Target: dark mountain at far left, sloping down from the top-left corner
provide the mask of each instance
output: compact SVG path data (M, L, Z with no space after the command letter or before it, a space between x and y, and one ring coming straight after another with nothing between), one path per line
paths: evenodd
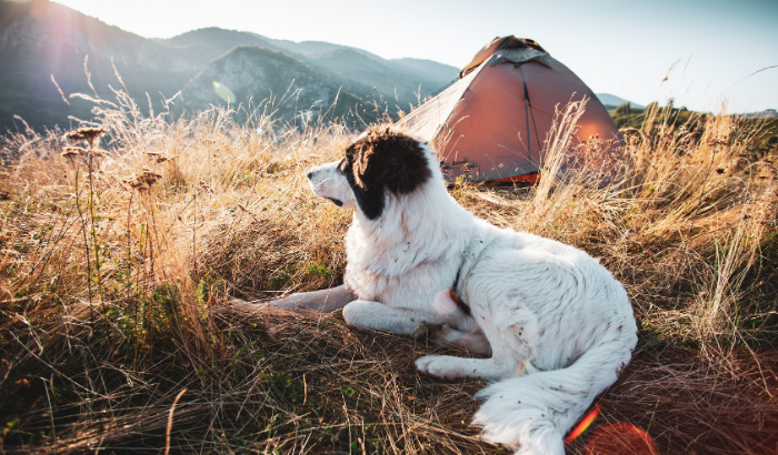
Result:
M110 95L119 87L113 64L137 100L144 93L170 95L198 71L188 55L44 0L0 2L0 131L14 129L18 114L33 128L66 125L68 115L90 117L92 104L62 100L64 93L92 94L84 74L89 57L91 82ZM17 122L17 125L19 123Z

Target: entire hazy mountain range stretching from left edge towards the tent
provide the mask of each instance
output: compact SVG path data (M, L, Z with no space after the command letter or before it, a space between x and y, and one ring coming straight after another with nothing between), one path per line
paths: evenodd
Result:
M231 88L237 92L253 90L252 93L263 93L260 87L273 87L276 93L278 81L255 79L247 82L241 79L239 68L228 63L243 61L241 59L246 55L268 59L267 62L252 62L252 68L289 65L288 69L278 67L277 74L301 75L295 82L295 87L302 90L300 95L306 91L326 92L325 98L329 99L332 89L340 89L339 98L343 103L356 103L367 101L368 95L383 94L386 105L393 108L398 103L397 93L403 109L408 102L417 102L417 92L421 98L431 94L456 78L458 71L429 60L386 60L357 48L320 41L273 40L218 28L193 30L170 39L148 39L48 0L0 0L0 134L22 128L13 119L14 114L38 130L67 127L71 123L71 115L90 118L92 103L80 99L68 99L69 104L66 103L51 81L53 74L66 95L73 92L93 94L83 71L87 55L91 82L100 97L112 99L109 84L113 88L121 85L114 74L116 65L141 109L148 110L148 93L156 111L162 108L162 97L170 98L184 87L184 92L192 97L184 100L184 103L190 101L187 109L205 107L200 101L205 102L209 97L197 88L200 83L205 87L202 78L213 73L223 80L240 81L240 88ZM265 48L268 52L242 50L222 61L220 69L217 69L218 64L211 65L239 46ZM238 55L242 55L241 59ZM231 74L232 71L236 73ZM291 82L291 79L286 81L286 87ZM221 83L228 85L225 81ZM312 85L305 87L306 83ZM223 103L215 93L210 101ZM255 101L260 100L255 98Z

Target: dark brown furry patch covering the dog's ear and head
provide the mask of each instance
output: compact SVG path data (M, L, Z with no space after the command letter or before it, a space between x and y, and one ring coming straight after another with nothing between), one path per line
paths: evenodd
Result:
M385 189L396 195L408 194L432 175L419 141L391 127L369 129L346 149L340 170L370 220L383 212Z

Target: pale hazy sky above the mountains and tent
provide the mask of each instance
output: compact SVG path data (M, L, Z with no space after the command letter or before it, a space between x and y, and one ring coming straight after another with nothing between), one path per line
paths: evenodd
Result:
M149 38L205 27L328 41L463 67L489 40L531 38L595 92L694 110L778 109L778 0L60 0ZM670 68L669 79L662 83ZM744 80L745 79L745 80Z

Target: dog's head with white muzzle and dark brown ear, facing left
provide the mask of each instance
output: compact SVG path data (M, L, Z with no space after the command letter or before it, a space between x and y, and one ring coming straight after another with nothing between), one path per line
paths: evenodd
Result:
M311 169L308 179L317 195L376 220L388 193L408 194L430 179L429 153L409 135L373 127L346 149L342 160Z

